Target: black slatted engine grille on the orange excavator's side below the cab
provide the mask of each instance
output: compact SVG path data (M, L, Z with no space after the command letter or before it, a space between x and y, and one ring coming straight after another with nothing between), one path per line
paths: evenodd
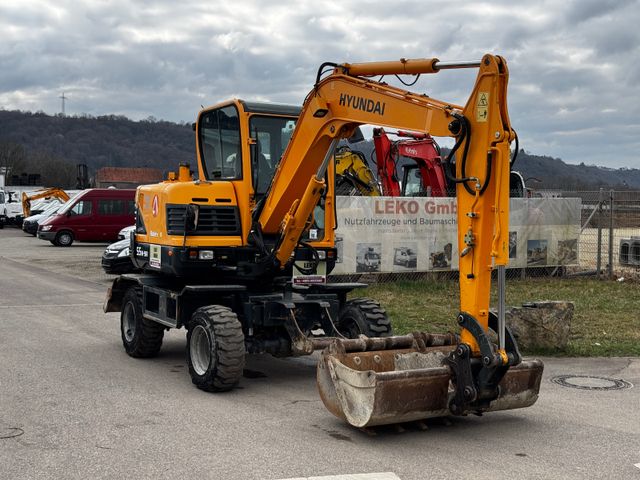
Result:
M167 233L184 235L186 205L167 205ZM200 205L198 227L189 235L240 235L238 207Z

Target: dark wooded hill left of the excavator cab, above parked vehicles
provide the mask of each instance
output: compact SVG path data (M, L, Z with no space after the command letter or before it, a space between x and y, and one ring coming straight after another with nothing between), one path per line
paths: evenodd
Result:
M76 165L81 163L93 177L101 167L169 171L180 162L195 165L194 160L190 124L0 110L0 167L9 167L8 180L12 175L40 174L41 184L67 188L75 186Z

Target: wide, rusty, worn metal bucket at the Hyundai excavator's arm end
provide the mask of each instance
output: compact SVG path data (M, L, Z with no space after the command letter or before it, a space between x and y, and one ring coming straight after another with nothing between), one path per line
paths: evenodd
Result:
M318 363L320 397L331 413L359 428L535 403L543 370L539 360L510 367L491 402L454 413L454 373L445 359L456 348L453 334L336 339Z

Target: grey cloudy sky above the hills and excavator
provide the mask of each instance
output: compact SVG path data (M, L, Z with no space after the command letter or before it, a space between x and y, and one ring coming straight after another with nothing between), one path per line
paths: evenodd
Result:
M193 121L301 104L325 61L507 59L526 151L640 168L640 0L3 0L0 108ZM464 104L475 74L415 87ZM390 83L393 83L390 81Z

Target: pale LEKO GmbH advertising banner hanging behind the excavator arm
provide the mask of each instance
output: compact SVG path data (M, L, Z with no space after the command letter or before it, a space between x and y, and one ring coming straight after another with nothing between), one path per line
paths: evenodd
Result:
M338 196L334 274L458 268L455 198ZM579 198L513 198L509 267L577 265Z

